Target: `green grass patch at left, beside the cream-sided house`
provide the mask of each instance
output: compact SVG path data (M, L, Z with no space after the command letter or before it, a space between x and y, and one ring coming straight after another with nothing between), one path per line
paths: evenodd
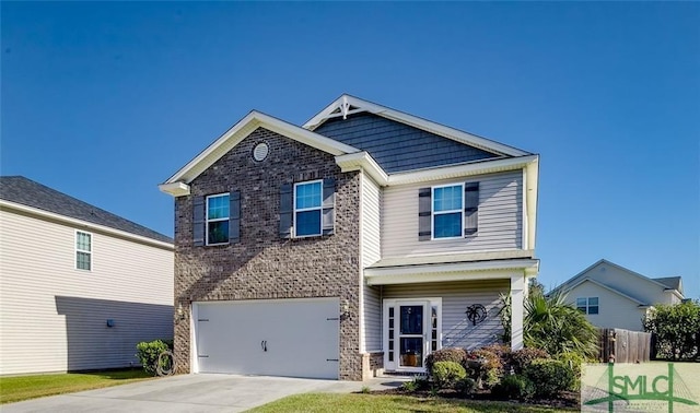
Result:
M0 403L126 385L153 378L141 369L0 377Z

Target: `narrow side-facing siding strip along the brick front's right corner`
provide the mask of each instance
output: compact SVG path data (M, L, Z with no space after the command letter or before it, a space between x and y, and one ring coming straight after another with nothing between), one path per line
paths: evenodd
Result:
M361 187L362 213L362 268L378 261L380 245L380 204L382 191L366 175L362 175ZM380 351L382 349L382 299L378 287L362 286L363 296L363 351Z

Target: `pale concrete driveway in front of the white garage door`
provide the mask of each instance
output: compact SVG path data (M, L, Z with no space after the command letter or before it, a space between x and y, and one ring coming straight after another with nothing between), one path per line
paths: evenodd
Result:
M312 380L287 377L182 375L79 393L3 404L16 412L243 412L287 396L353 392L398 387L408 378L368 381Z

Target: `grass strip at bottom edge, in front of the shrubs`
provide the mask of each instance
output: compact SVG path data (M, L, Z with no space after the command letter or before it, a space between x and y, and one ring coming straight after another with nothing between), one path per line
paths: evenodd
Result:
M290 396L250 410L255 413L277 412L459 412L459 413L539 413L575 412L508 402L421 399L396 394L306 393Z

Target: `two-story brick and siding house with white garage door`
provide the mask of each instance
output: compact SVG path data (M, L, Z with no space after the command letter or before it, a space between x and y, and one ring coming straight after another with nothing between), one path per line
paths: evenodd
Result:
M424 371L522 315L538 156L343 95L303 127L252 111L179 169L183 371ZM470 318L471 317L471 318ZM472 321L474 320L474 321ZM522 346L522 317L512 345Z

